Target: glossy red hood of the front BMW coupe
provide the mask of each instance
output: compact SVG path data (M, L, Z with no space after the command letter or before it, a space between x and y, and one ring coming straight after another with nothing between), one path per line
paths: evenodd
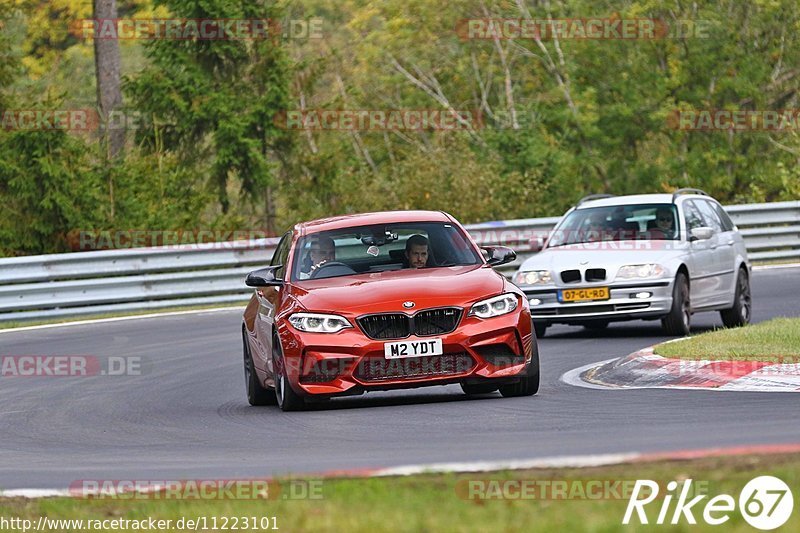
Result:
M414 312L428 307L471 305L503 292L502 275L481 265L404 269L307 280L293 296L309 311L352 314ZM407 309L403 302L412 301Z

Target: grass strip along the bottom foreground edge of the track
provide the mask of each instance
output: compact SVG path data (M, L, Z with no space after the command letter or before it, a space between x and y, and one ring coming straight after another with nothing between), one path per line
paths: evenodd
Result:
M718 457L687 461L637 463L611 467L584 469L538 469L527 471L502 471L480 474L430 474L396 478L329 479L318 481L318 499L284 498L261 500L112 500L68 499L25 500L21 498L0 500L0 517L21 518L35 524L40 516L49 519L104 520L114 518L172 520L206 517L210 527L217 518L217 529L223 530L222 520L227 518L232 529L233 518L270 517L269 526L277 522L278 530L293 531L637 531L652 529L659 510L665 501L657 498L645 507L649 526L635 521L623 526L622 517L627 507L633 483L637 479L652 479L659 483L662 495L669 481L693 480L699 489L692 494L707 494L694 507L698 522L690 526L685 519L677 525L660 526L666 531L719 531L719 526L709 526L703 521L703 508L711 497L729 494L738 501L745 484L758 476L772 475L782 479L794 490L794 500L800 502L796 487L800 486L800 455L763 455ZM552 491L538 489L533 498L480 499L470 498L470 481L493 480L505 487L521 483L543 482ZM588 489L589 481L619 482L616 492L595 499L587 495L601 494ZM287 483L283 482L284 486ZM295 480L293 483L299 483ZM558 492L560 483L566 492ZM566 483L566 485L564 485ZM490 487L484 484L483 487ZM604 485L608 486L608 485ZM627 493L625 487L628 487ZM582 488L582 490L576 490ZM288 491L291 492L291 491ZM300 491L302 492L302 491ZM287 494L282 491L281 494ZM480 494L480 493L473 493ZM492 493L487 489L486 494ZM521 494L508 491L508 494ZM584 495L581 497L581 495ZM291 496L291 494L287 494ZM530 495L530 494L529 494ZM548 496L549 495L549 496ZM542 496L545 496L542 498ZM670 503L668 517L672 516L677 495ZM271 517L274 517L273 521ZM668 518L669 520L669 518ZM635 524L635 525L634 525ZM239 529L242 529L242 523ZM657 526L658 527L658 526ZM200 528L202 529L202 528ZM270 528L266 528L271 530ZM730 513L725 531L754 531L737 509ZM44 529L55 531L56 529ZM85 531L86 529L84 529ZM178 530L173 527L170 530ZM252 529L250 530L258 530ZM784 525L785 531L800 530L800 512L795 510ZM61 525L58 531L81 531Z

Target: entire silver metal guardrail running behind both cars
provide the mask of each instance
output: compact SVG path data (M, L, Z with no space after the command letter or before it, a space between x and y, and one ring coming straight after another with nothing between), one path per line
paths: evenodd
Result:
M725 207L753 261L800 259L800 201ZM531 239L559 217L468 225L481 245L518 252L510 276L532 255ZM0 322L244 302L247 272L267 263L278 239L0 259Z

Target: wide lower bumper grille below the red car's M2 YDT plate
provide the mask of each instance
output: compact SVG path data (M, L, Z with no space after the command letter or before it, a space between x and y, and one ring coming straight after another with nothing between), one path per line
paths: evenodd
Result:
M353 375L364 382L418 379L463 374L475 366L475 360L466 353L384 359L362 359Z

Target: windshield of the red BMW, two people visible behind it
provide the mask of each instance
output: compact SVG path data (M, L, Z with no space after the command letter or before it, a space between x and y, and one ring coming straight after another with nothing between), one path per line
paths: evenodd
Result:
M453 224L405 222L312 233L295 246L293 281L481 263Z

